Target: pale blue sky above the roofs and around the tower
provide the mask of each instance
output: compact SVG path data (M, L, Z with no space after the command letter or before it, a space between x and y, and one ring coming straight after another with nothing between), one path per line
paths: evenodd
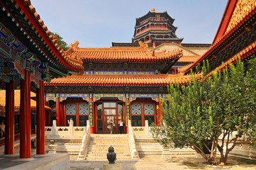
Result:
M131 42L135 18L151 8L175 18L184 43L211 43L228 0L30 0L52 32L79 47Z

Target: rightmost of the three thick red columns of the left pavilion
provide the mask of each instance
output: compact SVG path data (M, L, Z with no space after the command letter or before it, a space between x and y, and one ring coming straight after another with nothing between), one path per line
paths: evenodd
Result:
M45 154L45 98L43 81L36 89L36 154Z

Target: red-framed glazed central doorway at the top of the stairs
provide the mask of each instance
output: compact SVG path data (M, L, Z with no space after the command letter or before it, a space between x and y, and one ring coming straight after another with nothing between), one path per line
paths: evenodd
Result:
M110 133L111 120L116 125L114 133L118 133L118 121L123 119L123 103L96 102L96 132Z

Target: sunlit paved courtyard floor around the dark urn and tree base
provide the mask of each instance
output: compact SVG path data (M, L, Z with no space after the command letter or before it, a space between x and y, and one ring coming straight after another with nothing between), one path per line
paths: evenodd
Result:
M106 161L76 160L77 156L70 155L70 169L89 169L101 170ZM249 170L256 169L256 162L245 159L228 159L227 166L210 166L204 164L204 159L196 158L195 155L174 154L168 158L162 158L160 155L151 155L140 157L139 160L116 160L116 164L121 164L123 170L164 170L164 169L228 169L228 170Z

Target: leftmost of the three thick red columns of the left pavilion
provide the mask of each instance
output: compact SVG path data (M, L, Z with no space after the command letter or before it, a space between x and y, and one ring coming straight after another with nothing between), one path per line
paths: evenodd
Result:
M13 81L6 83L6 138L4 154L14 154L14 89Z

